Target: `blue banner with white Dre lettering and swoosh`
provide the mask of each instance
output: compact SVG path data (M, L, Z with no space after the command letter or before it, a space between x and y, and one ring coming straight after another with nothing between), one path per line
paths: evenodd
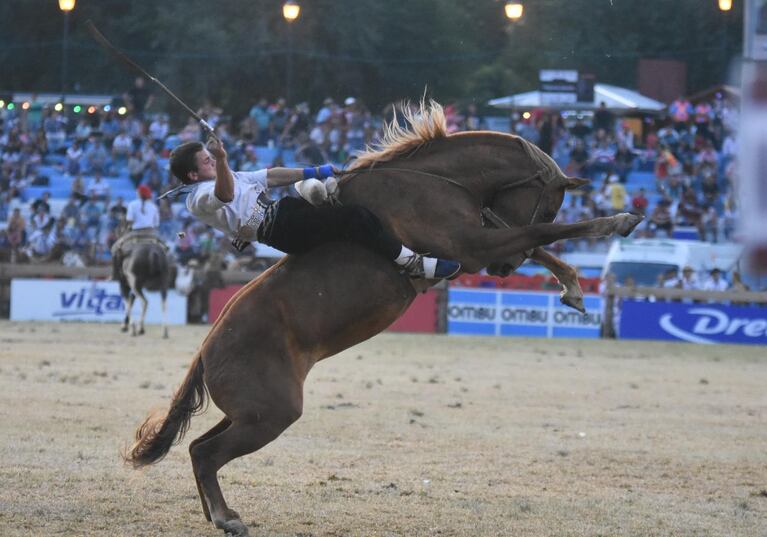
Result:
M623 339L767 344L767 308L625 300Z

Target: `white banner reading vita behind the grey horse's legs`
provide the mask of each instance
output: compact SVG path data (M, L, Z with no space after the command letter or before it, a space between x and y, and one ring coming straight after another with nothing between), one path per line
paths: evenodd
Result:
M162 323L160 293L146 293L147 324ZM168 324L186 324L186 297L168 291ZM141 315L136 299L133 315ZM11 280L11 320L122 322L125 302L117 282L90 280ZM138 317L137 317L138 318Z

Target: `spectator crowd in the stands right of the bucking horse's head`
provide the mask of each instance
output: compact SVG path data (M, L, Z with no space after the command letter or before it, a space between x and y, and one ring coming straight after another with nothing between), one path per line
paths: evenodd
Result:
M619 212L646 216L635 237L731 241L736 232L737 108L715 96L693 105L675 100L664 117L644 118L644 139L604 103L591 124L558 113L520 119L515 131L560 163L592 180L566 200L559 219L571 223ZM686 230L686 233L679 233ZM595 250L604 242L559 245Z

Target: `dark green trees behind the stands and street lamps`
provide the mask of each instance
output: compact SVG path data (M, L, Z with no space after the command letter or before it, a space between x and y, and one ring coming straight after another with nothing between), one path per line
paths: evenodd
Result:
M87 35L92 19L173 89L244 113L261 96L363 98L373 109L425 90L483 103L537 86L542 68L580 69L635 86L640 58L687 62L690 91L723 82L741 47L742 2L537 0L512 24L500 0L79 0L70 15L70 89L120 94L132 74ZM727 34L725 34L727 28ZM63 16L55 0L0 2L0 90L59 91Z

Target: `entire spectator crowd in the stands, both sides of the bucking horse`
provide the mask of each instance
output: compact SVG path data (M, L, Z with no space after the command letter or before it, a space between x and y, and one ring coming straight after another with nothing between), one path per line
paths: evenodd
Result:
M157 196L175 185L169 153L181 142L202 139L198 123L190 118L181 128L172 126L151 107L151 93L139 80L124 99L125 114L110 107L79 114L53 106L0 109L0 261L107 264L136 187L146 185ZM344 163L373 142L383 118L391 117L390 110L372 114L354 97L328 98L316 111L305 103L262 99L237 120L206 103L199 114L215 127L235 170ZM451 132L484 127L473 105L460 111L448 106L446 115ZM701 238L722 241L733 237L738 212L734 115L722 99L695 106L679 99L667 119L645 123L644 139L605 107L591 121L534 112L512 128L568 175L592 179L591 188L568 195L560 221L636 211L648 217L639 236L672 236L677 226L687 226ZM284 194L291 192L275 193ZM230 266L256 262L252 254L233 252L225 237L191 218L183 204L163 199L159 208L160 234L181 263L204 260L219 248L230 252ZM606 246L582 241L554 248Z

